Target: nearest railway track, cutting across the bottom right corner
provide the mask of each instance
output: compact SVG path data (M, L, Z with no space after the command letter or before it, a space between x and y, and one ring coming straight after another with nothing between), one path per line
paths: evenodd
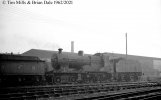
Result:
M120 92L93 94L75 98L75 100L159 100L161 87L147 87L139 90L131 89Z

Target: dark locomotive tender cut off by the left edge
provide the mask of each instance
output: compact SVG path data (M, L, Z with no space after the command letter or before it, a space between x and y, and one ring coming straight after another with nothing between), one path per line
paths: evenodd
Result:
M0 86L37 84L44 80L46 68L38 57L0 54Z

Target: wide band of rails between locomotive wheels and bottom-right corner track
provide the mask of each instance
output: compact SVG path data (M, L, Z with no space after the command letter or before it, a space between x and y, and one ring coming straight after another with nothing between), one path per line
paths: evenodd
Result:
M110 91L121 91L127 89L158 87L156 83L100 83L100 84L77 84L77 85L50 85L33 87L8 87L1 88L0 100L22 100L22 99L44 99L68 97L73 95L84 95L94 93L107 93Z

